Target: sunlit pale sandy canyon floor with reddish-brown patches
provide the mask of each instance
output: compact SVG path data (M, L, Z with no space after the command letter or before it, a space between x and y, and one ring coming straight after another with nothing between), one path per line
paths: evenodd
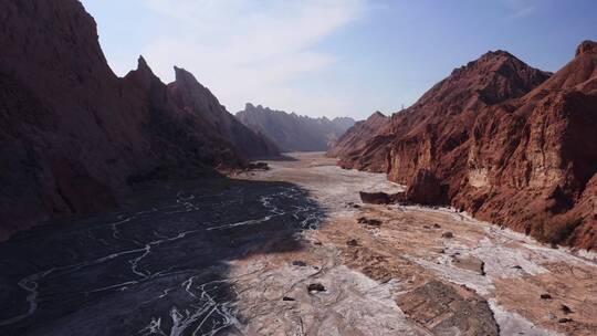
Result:
M291 157L238 178L296 183L326 216L301 249L231 262L241 334L597 335L593 261L450 209L362 204L404 187Z

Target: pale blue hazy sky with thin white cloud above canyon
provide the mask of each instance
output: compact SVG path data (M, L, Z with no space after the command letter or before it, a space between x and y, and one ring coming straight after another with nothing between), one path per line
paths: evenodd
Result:
M113 70L144 55L244 103L357 118L412 104L453 67L503 49L555 71L597 40L597 1L83 0Z

